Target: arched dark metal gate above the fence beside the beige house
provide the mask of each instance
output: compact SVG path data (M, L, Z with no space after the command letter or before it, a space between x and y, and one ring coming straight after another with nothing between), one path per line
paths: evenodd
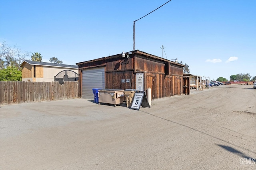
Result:
M64 81L78 81L78 79L78 73L72 70L63 70L54 76L54 81L58 81L60 84L64 84Z

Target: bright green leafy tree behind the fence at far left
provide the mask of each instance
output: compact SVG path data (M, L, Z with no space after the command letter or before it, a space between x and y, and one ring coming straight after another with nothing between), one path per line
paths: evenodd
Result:
M0 69L0 81L22 81L22 71L15 66Z

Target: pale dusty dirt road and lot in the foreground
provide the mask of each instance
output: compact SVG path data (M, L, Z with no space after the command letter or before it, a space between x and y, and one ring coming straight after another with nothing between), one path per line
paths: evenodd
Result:
M256 90L222 85L139 111L85 99L0 108L1 170L256 169Z

